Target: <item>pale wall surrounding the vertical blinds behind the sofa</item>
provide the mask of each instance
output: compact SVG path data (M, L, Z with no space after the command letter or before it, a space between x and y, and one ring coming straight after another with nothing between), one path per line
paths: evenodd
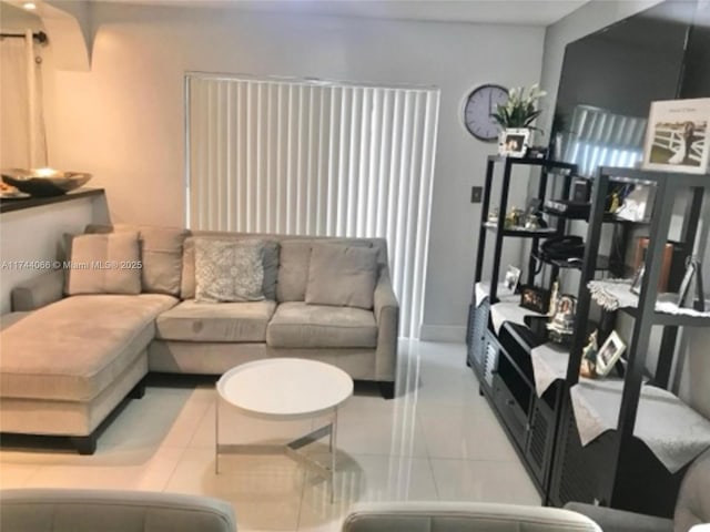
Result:
M424 321L464 339L491 144L460 121L477 84L538 81L544 29L234 10L92 4L89 73L57 72L50 154L92 172L114 222L182 225L185 71L436 85L442 89ZM51 35L50 35L51 37Z

